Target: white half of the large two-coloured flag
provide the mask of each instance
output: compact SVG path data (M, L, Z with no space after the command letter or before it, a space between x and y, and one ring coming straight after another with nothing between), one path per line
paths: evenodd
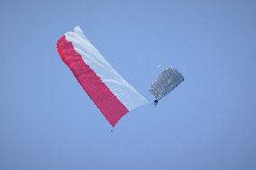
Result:
M65 33L65 37L72 42L74 49L82 56L85 63L95 71L96 75L101 78L103 83L125 105L128 111L149 103L142 94L139 94L132 85L129 85L114 70L114 67L91 44L79 26L74 28L73 31Z

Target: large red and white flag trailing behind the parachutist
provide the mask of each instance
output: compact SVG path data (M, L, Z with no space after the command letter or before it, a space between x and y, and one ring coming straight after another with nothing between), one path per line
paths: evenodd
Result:
M123 115L149 103L105 60L79 27L57 43L60 58L114 127Z

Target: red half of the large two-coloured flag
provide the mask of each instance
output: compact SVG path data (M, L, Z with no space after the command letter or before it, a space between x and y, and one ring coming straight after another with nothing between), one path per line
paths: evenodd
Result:
M62 36L57 43L60 58L76 76L105 119L114 127L128 110L83 60L71 42Z

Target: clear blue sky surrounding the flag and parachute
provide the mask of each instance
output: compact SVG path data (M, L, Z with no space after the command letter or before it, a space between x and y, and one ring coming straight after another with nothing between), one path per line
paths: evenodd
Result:
M256 169L255 9L254 0L2 0L0 169ZM150 101L164 67L184 83L111 132L56 49L77 25Z

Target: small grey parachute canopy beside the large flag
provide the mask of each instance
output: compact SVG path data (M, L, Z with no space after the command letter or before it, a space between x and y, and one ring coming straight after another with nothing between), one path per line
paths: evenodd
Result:
M160 73L158 79L151 83L149 91L155 96L156 100L159 101L183 81L184 76L182 76L177 69L167 67Z

